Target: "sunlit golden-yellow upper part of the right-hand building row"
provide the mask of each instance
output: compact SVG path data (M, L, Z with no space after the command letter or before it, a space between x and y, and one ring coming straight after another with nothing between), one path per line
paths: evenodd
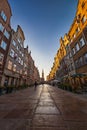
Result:
M71 44L84 30L87 26L87 0L78 0L77 10L74 20L68 33L65 33L64 37L60 38L60 47L54 58L53 67L47 80L51 80L55 77L56 71L60 68L60 63L64 56L66 56L66 46Z

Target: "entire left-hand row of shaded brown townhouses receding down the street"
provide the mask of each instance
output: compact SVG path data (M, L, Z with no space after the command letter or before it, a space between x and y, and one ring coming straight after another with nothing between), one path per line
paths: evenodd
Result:
M12 16L8 0L0 0L0 86L34 84L39 71L28 46L24 47L24 32L18 25L10 26Z

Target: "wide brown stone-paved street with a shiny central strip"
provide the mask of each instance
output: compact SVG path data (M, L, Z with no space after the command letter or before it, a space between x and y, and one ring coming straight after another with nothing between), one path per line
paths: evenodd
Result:
M87 130L87 99L49 85L3 95L0 130Z

